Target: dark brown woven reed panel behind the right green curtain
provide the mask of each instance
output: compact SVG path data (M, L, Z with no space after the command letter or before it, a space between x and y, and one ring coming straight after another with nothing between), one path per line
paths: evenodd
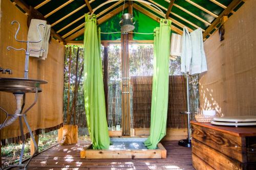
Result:
M133 126L150 128L152 76L131 77L133 86ZM183 76L169 76L167 128L186 128L186 80Z

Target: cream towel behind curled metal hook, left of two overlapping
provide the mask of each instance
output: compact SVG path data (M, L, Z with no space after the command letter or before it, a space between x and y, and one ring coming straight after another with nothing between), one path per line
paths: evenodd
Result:
M29 26L29 31L28 31L28 41L38 41L40 40L40 36L39 33L42 37L42 40L40 42L30 42L29 43L29 51L30 50L41 50L42 48L42 43L44 40L44 35L45 35L45 31L46 29L42 26L39 26L38 30L39 33L37 31L37 26L39 25L39 23L42 23L46 26L46 21L45 20L40 20L40 19L31 19L30 22L30 26ZM31 57L39 57L40 56L40 52L30 52Z

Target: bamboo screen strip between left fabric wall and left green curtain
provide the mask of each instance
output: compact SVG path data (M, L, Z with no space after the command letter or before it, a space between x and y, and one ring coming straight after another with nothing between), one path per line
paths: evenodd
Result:
M66 46L63 122L78 127L87 127L83 98L83 54L82 46Z

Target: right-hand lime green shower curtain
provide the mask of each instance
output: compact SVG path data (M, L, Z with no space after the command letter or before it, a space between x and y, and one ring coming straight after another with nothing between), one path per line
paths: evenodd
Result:
M152 86L150 136L144 142L148 149L156 149L166 134L169 83L170 24L160 20L154 30L154 75Z

